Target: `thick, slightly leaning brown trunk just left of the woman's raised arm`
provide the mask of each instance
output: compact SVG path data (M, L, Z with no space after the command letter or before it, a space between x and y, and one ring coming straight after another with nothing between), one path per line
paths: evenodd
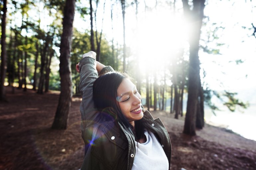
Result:
M63 33L60 45L60 77L61 94L52 129L66 129L69 108L72 100L72 76L70 51L72 43L72 28L75 13L75 0L66 0L63 18Z

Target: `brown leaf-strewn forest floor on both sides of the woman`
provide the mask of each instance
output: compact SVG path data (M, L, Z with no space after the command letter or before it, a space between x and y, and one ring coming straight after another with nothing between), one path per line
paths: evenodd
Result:
M58 92L40 95L15 89L12 94L6 89L9 102L0 102L0 170L78 170L84 152L81 98L72 99L68 128L52 130ZM161 111L152 115L160 117L169 132L172 170L256 170L256 141L207 124L190 137L182 133L184 120Z

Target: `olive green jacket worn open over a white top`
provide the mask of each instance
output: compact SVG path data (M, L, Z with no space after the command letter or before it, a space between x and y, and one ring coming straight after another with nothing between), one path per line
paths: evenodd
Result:
M124 128L115 118L113 110L98 112L92 100L92 85L98 77L96 62L85 57L79 62L82 93L80 104L81 131L85 143L85 156L81 170L131 170L136 156L135 137L130 128ZM110 66L99 73L113 71ZM161 143L171 162L171 142L166 128L159 118L153 119L149 111L144 111L144 126L153 132Z

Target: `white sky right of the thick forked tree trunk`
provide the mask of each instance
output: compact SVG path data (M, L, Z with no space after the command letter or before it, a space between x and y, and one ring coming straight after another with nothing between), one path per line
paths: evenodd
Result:
M220 32L221 36L218 42L226 44L220 48L222 55L214 56L201 53L200 61L207 72L205 81L216 89L220 89L219 84L215 81L219 79L227 89L253 88L256 90L254 80L256 73L256 38L254 36L248 37L253 33L253 30L248 31L242 28L252 28L251 23L253 22L256 25L256 8L252 11L255 1L244 3L244 1L237 0L233 6L231 5L232 3L227 1L221 1L221 5L210 1L205 7L205 15L210 16L210 22L222 23L221 26L225 27ZM230 7L229 10L227 10L228 6ZM218 12L216 13L216 11ZM236 65L234 62L229 62L238 59L242 59L244 63ZM212 61L218 63L219 66L212 64Z

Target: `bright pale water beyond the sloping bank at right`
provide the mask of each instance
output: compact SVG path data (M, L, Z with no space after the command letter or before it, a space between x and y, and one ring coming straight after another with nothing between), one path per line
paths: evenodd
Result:
M248 88L237 90L237 92L238 94L236 97L239 100L249 102L250 106L247 109L237 106L235 112L231 112L226 106L223 106L213 97L212 100L214 103L217 103L217 106L221 111L216 111L216 116L214 116L206 106L204 109L204 118L206 122L223 126L244 138L256 141L256 89Z

